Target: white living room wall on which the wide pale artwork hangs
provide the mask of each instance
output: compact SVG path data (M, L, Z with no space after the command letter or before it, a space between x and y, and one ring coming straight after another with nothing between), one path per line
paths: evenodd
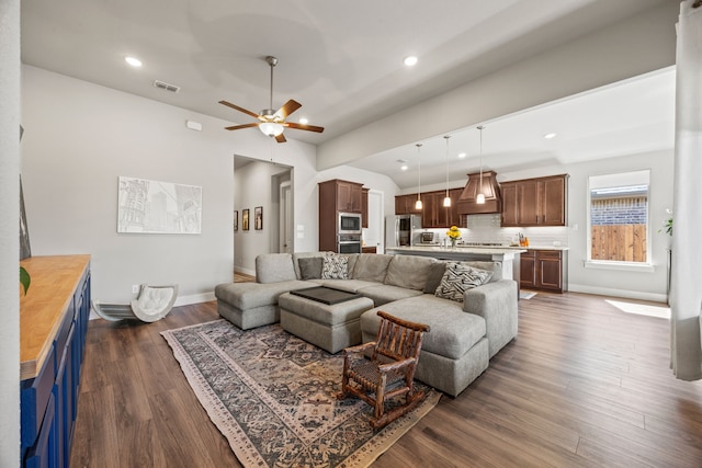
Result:
M94 298L125 303L138 283L178 283L178 304L211 299L234 271L234 155L285 159L296 201L314 196L315 149L38 68L22 67L23 184L34 255L90 253ZM185 121L203 124L203 132ZM280 145L282 146L282 145ZM120 175L199 185L201 235L116 232ZM298 180L298 178L301 178ZM316 212L295 216L314 225ZM316 241L309 249L316 248Z

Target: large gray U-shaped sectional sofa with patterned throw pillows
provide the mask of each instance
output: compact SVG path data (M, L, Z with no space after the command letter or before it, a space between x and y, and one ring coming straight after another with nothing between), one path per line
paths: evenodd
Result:
M336 264L340 256L346 259L341 262L343 267ZM477 274L475 281L479 285L465 292L465 285L457 285L460 294L451 290L452 281L465 283L461 272L466 271L471 281L475 279L471 275ZM246 330L280 321L279 298L282 296L283 304L291 304L287 307L292 309L294 304L286 293L294 289L322 285L360 294L371 299L372 306L367 300L356 301L361 309L344 310L344 321L337 321L333 332L324 323L328 319L320 320L318 315L304 311L296 313L285 307L282 307L283 328L291 323L295 334L307 336L313 343L327 343L329 339L319 335L337 336L341 327L347 332L344 336L350 336L344 338L351 340L348 343L358 344L353 341L375 339L380 322L377 310L427 323L431 330L422 342L416 378L454 397L517 335L517 283L501 277L499 262L455 263L373 253L271 253L256 259L256 277L257 283L216 286L217 310L222 317ZM369 310L363 310L366 307ZM338 343L332 346L332 352L340 349Z

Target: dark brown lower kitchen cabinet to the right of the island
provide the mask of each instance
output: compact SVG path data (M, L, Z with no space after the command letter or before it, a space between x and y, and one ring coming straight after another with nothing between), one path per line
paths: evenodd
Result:
M564 289L564 253L559 250L529 250L521 254L520 286L528 289Z

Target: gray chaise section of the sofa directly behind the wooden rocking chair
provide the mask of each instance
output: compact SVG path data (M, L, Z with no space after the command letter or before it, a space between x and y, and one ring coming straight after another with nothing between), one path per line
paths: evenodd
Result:
M456 397L489 364L489 347L483 317L463 310L461 303L432 294L396 300L361 316L363 342L375 341L381 322L377 311L403 320L428 324L415 377Z

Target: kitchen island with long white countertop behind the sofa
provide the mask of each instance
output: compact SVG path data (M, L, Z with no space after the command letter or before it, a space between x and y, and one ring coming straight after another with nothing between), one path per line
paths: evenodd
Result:
M463 247L455 249L439 246L388 247L385 252L390 255L421 255L438 260L483 260L502 263L502 277L512 278L519 284L520 255L526 249L513 247Z

